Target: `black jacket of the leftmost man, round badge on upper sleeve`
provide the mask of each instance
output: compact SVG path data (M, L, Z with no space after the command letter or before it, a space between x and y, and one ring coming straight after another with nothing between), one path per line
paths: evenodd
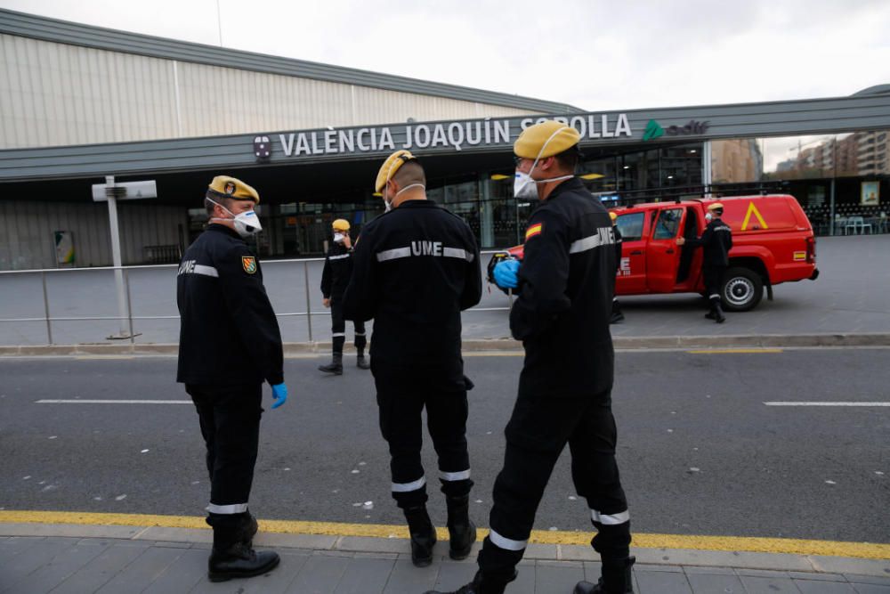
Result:
M179 371L186 384L284 381L281 333L260 263L238 233L219 224L185 251L176 280Z

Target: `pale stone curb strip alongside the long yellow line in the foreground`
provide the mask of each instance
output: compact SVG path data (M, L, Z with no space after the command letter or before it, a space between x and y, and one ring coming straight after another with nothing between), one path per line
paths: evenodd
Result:
M263 520L260 521L261 530ZM128 541L178 542L206 545L213 533L206 529L172 528L134 525L77 525L2 523L0 535L7 537L69 537L119 539ZM344 553L375 553L408 555L408 540L368 536L337 536L324 534L257 534L255 544L282 549L327 550ZM481 543L473 545L475 557ZM853 557L793 555L788 553L752 553L746 551L715 551L700 549L642 549L632 547L637 563L652 566L730 567L742 570L772 570L805 574L856 574L887 578L890 560ZM526 559L567 562L598 562L599 556L590 547L564 544L530 544ZM471 561L472 563L472 561Z

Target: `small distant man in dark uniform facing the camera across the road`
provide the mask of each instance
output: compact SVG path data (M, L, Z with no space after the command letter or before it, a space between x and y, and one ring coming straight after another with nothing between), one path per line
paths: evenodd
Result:
M338 218L331 225L334 242L325 257L325 268L321 273L322 303L331 310L331 342L334 355L330 364L320 365L319 369L335 375L343 374L343 346L346 342L346 321L343 317L343 293L352 276L352 240L349 237L349 221ZM365 359L365 322L355 321L356 365L360 369L370 369Z

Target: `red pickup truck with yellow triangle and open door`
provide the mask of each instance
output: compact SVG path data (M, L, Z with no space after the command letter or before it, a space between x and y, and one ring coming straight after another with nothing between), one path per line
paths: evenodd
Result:
M703 293L701 249L678 247L676 238L700 236L706 208L716 201L723 203L722 219L732 228L729 268L720 292L727 310L748 311L760 303L764 288L772 299L777 284L819 276L813 226L793 196L651 202L611 209L623 238L615 293ZM522 246L507 252L522 260Z

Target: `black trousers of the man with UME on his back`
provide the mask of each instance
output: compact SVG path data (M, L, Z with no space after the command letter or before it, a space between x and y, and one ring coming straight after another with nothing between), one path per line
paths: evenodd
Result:
M420 459L424 444L422 413L439 457L441 491L446 497L470 492L470 455L466 451L466 384L435 367L393 366L371 358L377 389L380 431L389 444L392 498L401 509L424 505L426 477Z

